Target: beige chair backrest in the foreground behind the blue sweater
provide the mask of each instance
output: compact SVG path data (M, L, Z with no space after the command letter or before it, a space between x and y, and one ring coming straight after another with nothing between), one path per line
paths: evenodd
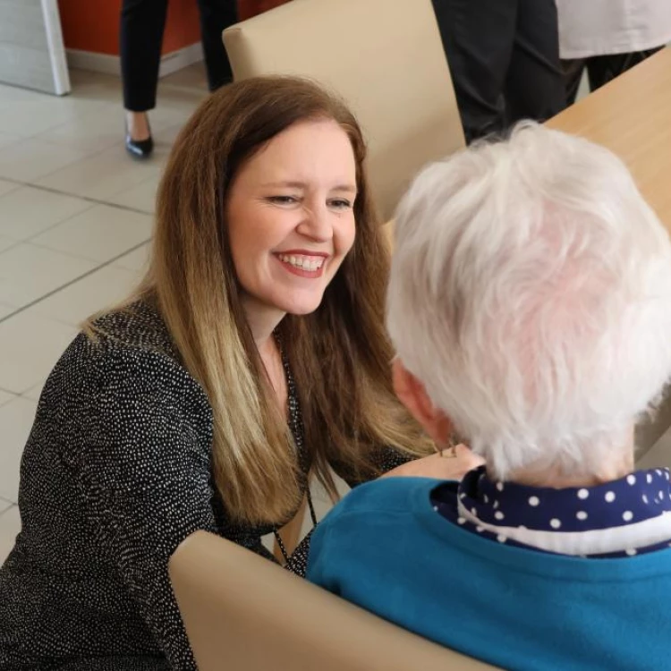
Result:
M200 671L485 671L206 531L170 559Z

